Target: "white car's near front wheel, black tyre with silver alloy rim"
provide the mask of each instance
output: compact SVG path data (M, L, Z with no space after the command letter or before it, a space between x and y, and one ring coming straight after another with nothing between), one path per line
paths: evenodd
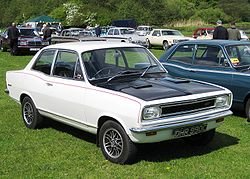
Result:
M100 128L99 144L105 158L113 163L133 162L137 147L125 130L114 121L106 121Z

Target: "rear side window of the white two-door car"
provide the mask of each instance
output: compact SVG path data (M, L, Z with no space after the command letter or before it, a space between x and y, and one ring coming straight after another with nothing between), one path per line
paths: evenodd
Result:
M50 75L51 66L54 60L55 53L56 53L55 50L43 51L36 60L32 69Z

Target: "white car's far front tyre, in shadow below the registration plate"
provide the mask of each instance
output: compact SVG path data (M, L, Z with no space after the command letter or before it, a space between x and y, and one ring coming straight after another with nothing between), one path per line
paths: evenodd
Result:
M215 129L184 138L191 145L207 145L214 138Z

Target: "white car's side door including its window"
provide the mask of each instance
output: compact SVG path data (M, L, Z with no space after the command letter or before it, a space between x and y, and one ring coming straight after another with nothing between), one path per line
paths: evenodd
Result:
M48 83L51 99L50 110L62 117L75 121L85 121L85 81L79 61L74 51L59 50Z

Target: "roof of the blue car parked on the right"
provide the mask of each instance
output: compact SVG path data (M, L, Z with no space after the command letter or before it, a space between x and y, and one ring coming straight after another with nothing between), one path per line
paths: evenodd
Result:
M208 45L239 45L239 44L250 44L250 41L238 41L238 40L189 40L185 42L180 42L182 44L208 44Z

